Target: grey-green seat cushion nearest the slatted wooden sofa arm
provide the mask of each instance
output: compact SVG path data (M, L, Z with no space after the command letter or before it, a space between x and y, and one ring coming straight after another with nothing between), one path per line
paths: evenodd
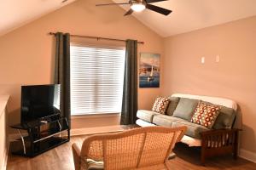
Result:
M201 132L210 130L207 127L201 126L199 124L195 124L193 122L187 122L187 121L172 122L172 127L181 127L181 126L188 127L185 135L196 138L196 139L201 139Z

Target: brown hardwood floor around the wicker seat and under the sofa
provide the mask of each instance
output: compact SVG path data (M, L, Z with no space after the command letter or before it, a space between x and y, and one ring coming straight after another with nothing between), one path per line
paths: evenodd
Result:
M8 170L73 170L73 154L71 145L73 143L82 144L86 136L72 137L66 144L49 150L34 158L9 155ZM177 144L174 149L176 158L168 162L173 170L256 170L256 163L238 158L236 161L232 156L221 156L213 158L206 163L206 167L200 165L200 149L189 148L186 144Z

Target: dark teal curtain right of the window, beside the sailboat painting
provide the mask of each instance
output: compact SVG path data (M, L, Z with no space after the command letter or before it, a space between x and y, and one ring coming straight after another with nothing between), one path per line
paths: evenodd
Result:
M134 124L137 120L137 41L126 41L125 78L123 89L122 125Z

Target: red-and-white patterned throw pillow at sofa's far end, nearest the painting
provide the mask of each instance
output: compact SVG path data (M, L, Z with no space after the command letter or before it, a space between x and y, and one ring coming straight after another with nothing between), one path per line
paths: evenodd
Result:
M169 105L170 99L165 97L158 97L154 101L152 111L158 112L160 114L165 114L167 106Z

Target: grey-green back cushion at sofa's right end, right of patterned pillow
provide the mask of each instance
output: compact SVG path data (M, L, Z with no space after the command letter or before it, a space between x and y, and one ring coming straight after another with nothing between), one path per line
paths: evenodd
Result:
M212 128L231 128L236 118L236 111L231 108L221 106L218 117Z

